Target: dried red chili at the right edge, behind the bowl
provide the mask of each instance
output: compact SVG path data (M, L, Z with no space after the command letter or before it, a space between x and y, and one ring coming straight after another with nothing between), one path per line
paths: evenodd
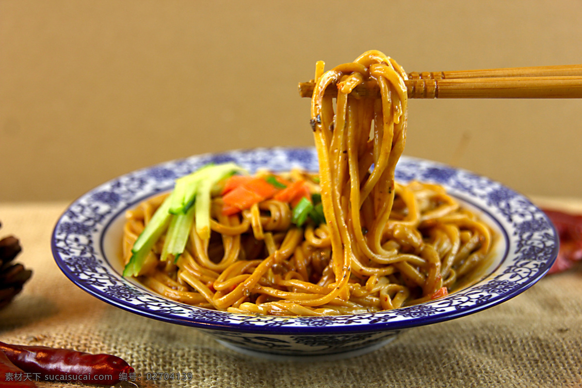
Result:
M556 262L548 273L562 272L582 260L582 215L543 209L556 227L560 248Z

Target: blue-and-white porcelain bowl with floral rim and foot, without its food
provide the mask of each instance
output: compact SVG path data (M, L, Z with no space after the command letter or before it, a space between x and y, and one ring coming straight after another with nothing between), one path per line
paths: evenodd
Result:
M120 241L125 211L171 190L177 177L200 166L230 161L251 172L259 168L318 169L313 148L261 148L192 156L120 176L89 191L63 213L52 236L56 263L73 283L105 302L159 321L200 329L235 350L271 358L329 358L367 353L404 329L459 318L509 300L540 280L558 252L551 222L527 198L466 170L403 157L396 169L398 181L442 184L496 231L495 257L480 282L438 300L392 311L281 317L192 307L122 277Z

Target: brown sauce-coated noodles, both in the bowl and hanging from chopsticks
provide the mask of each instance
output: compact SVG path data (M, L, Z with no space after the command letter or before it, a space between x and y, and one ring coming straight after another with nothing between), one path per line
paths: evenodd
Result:
M488 226L440 186L394 180L406 140L405 79L403 69L378 51L325 73L318 62L311 101L318 176L261 172L257 179L271 182L276 194L240 209L226 203L223 189L211 200L210 237L193 226L174 262L161 260L162 235L140 281L187 304L275 315L398 308L468 282L491 250ZM350 96L370 80L380 97ZM335 106L324 95L330 85L338 88ZM281 194L290 187L301 187L302 197ZM325 222L297 222L299 200L313 207L318 195ZM126 262L163 199L127 213Z

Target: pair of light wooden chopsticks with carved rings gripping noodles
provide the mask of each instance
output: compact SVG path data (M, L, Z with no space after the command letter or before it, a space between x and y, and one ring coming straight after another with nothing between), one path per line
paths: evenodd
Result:
M409 73L409 98L582 98L582 65L510 67L507 69ZM301 97L311 97L313 80L299 84ZM329 86L326 95L336 97ZM375 81L352 91L356 97L378 94Z

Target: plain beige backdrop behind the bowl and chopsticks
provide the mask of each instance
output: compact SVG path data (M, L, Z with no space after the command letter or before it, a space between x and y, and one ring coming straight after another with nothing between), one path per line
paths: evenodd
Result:
M0 0L0 201L70 201L202 152L311 145L296 84L319 59L373 48L408 72L580 63L581 20L573 0ZM409 107L406 154L530 195L582 194L582 101Z

